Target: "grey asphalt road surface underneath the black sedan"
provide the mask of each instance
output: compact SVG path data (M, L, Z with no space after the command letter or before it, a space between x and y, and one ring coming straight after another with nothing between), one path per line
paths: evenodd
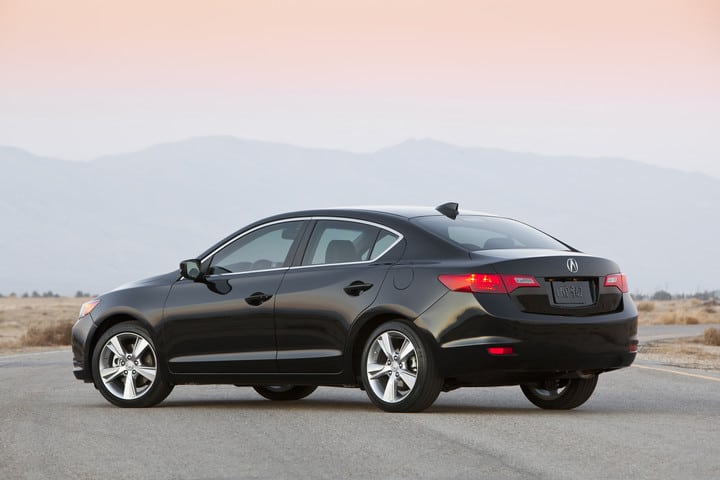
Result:
M421 414L383 413L360 390L276 403L231 386L120 409L72 377L69 351L1 356L0 385L0 479L720 475L720 375L643 362L569 412L518 387L444 393Z

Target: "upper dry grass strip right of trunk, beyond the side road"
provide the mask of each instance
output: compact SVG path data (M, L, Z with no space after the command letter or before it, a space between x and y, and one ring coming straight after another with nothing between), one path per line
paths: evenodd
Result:
M697 325L720 323L715 303L698 299L638 302L643 325Z

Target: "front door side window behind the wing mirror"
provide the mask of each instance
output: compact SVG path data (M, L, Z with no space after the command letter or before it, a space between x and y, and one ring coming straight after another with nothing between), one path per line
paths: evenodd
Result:
M243 235L213 256L211 274L287 267L302 221L278 223Z

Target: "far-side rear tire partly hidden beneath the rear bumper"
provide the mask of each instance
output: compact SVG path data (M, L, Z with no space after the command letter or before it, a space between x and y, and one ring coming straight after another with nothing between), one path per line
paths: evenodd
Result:
M571 410L587 401L595 391L598 376L548 380L521 385L523 393L533 404L547 410Z

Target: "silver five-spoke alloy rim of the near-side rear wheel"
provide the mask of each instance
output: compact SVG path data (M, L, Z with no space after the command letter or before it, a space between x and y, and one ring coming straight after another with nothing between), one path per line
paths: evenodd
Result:
M396 330L381 333L370 347L367 378L373 392L387 403L398 403L415 387L418 361L415 345Z

